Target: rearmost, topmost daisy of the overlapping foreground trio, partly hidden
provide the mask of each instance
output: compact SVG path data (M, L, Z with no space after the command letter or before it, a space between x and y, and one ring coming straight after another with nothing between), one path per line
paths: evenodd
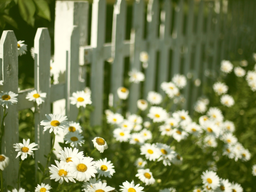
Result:
M57 155L57 157L60 158L63 162L72 162L73 158L83 159L84 158L84 152L81 151L78 153L78 149L74 148L66 148L64 147L64 150L60 150L60 154Z

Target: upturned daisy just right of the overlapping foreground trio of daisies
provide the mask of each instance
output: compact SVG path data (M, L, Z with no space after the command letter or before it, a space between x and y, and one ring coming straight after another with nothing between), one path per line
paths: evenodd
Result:
M115 166L113 166L113 163L111 163L111 161L108 161L107 158L96 161L94 166L98 171L97 173L99 173L98 178L100 176L111 178L113 176L113 173L116 172L115 169L113 169Z

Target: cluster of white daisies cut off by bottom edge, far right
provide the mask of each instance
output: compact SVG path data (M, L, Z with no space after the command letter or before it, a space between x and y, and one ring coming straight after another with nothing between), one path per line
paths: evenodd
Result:
M196 187L193 192L243 192L240 184L234 181L230 183L228 179L220 178L216 172L206 170L201 178L203 185Z

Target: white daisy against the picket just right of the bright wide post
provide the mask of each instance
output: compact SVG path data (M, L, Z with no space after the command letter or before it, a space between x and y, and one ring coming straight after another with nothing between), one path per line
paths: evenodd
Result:
M76 105L77 108L85 106L87 104L92 104L91 95L84 91L76 91L72 93L72 97L70 99L70 104Z

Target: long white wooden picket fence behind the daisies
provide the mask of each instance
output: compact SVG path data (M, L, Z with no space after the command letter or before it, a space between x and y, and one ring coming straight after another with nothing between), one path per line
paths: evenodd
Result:
M38 28L34 41L35 89L46 92L47 99L39 108L36 108L35 142L38 144L35 154L36 162L45 165L44 155L48 154L51 147L50 134L44 132L40 125L40 121L45 119L45 114L51 113L51 103L55 102L53 111L61 112L58 107L65 108L68 119L76 120L78 110L70 105L68 98L72 92L85 88L86 65L91 65L90 88L92 105L95 107L91 117L92 125L101 124L103 73L106 60L113 60L110 88L114 95L114 103L118 99L116 90L123 85L124 58L130 57L130 69L136 68L141 71L139 55L142 51L147 51L149 54L148 68L145 69L143 98L146 97L148 91L155 90L156 82L156 91L163 94L160 90L161 82L170 80L177 73L186 75L192 72L193 79L201 78L204 84L206 81L202 79L203 71L218 68L220 60L224 58L225 31L223 27L227 23L226 6L225 0L215 1L215 3L204 0L199 2L180 0L175 6L170 0L164 0L161 6L158 0L149 0L147 4L143 0L135 0L131 39L125 40L127 5L124 0L117 0L113 13L112 42L105 43L106 0L94 0L91 44L87 45L89 3L86 1L56 1L54 65L60 68L60 71L66 71L66 82L51 84L49 72L51 38L47 28ZM146 14L145 8L147 8ZM146 39L144 39L145 21L147 22ZM157 52L160 53L159 61L157 61ZM17 93L17 39L13 31L4 31L1 37L0 60L3 65L0 77L4 80L1 90ZM157 62L158 70L156 70ZM157 81L156 71L158 72ZM129 111L134 113L137 110L136 101L140 99L141 85L131 84L129 89ZM19 141L18 111L34 107L32 101L25 99L31 90L33 89L19 91L18 104L8 108L2 144L2 152L10 157L10 165L4 170L5 185L15 186L17 182L19 160L15 158L17 153L13 144ZM190 109L199 93L198 87L188 84L183 92L188 101L184 105L185 109ZM65 101L59 101L63 99Z

